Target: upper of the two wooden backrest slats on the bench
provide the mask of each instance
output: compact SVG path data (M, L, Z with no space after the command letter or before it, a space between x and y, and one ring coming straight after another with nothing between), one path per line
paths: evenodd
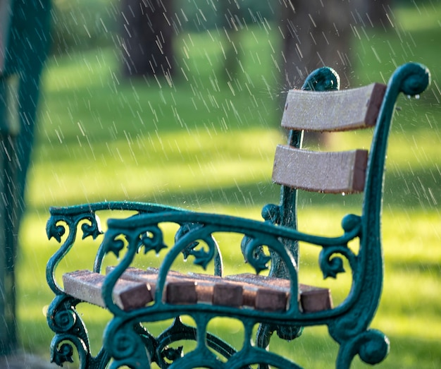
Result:
M386 86L372 83L351 90L290 90L282 127L296 131L347 131L375 126Z

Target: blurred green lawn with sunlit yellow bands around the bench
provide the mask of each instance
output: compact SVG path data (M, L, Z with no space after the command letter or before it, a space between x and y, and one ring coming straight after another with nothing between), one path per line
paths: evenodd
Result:
M380 368L441 365L441 92L438 43L441 6L398 8L395 27L354 32L356 67L352 85L387 82L406 61L425 63L433 84L421 99L400 97L390 137L383 217L385 285L373 327L391 340ZM49 356L52 332L44 307L53 297L44 267L57 248L46 241L51 205L99 200L165 202L189 209L259 219L261 206L278 202L271 184L273 152L285 138L280 121L277 28L244 32L242 72L230 84L221 75L221 35L180 35L176 58L182 67L166 80L123 80L118 54L89 49L49 60L44 74L37 145L27 191L28 210L20 231L18 317L27 351ZM334 66L338 71L338 66ZM342 135L333 148L368 145L369 132ZM302 195L300 227L337 234L340 214L359 212L360 198ZM104 214L106 216L107 214ZM61 270L91 267L97 244L72 250ZM240 265L239 248L228 249L227 272ZM329 284L343 297L347 279L322 282L316 250L302 250L301 277ZM108 315L84 308L94 347ZM91 318L93 316L93 318ZM227 337L225 329L213 325ZM273 346L308 368L327 368L337 346L326 329ZM358 359L354 368L366 365Z

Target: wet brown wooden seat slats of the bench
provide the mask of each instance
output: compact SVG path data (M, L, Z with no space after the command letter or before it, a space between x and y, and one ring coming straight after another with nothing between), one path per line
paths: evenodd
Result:
M108 267L111 272L113 267ZM67 294L105 308L101 288L106 276L80 270L63 274ZM123 310L140 308L154 300L158 270L128 268L118 279L113 300ZM290 281L256 274L217 277L210 274L181 274L169 271L164 301L172 304L211 303L218 306L247 306L256 310L286 310L290 297ZM305 313L332 308L330 291L320 287L299 285L299 301Z

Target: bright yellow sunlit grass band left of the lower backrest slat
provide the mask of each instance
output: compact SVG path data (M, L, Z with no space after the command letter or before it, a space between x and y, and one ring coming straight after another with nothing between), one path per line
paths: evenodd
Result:
M232 178L237 186L259 182L269 185L273 151L280 139L275 129L249 129L234 135L165 133L131 143L97 143L93 150L87 142L70 145L70 170L62 177L57 171L66 159L35 164L35 183L39 186L32 188L30 198L35 202L31 200L31 204L66 205L78 201L79 193L86 193L88 200L149 201L163 193L185 198L186 193L231 186ZM261 145L254 145L256 141ZM49 176L54 176L54 181L46 186L44 180Z

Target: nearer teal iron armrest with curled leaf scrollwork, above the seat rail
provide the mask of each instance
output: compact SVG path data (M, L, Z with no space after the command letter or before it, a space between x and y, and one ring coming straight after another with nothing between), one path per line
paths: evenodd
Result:
M185 232L175 237L175 243L170 248L164 242L163 231L160 224L174 223L182 227L187 227ZM189 224L191 227L189 228ZM158 280L156 282L155 306L160 308L163 305L164 286L170 267L182 253L185 256L194 257L194 264L203 269L216 257L219 248L213 239L213 234L218 232L229 232L242 234L242 252L249 265L254 267L256 273L267 269L267 263L271 256L265 255L261 248L267 246L271 252L276 253L288 271L291 291L290 310L287 313L296 313L297 303L295 299L298 295L297 265L290 250L280 241L282 238L290 238L294 241L304 241L313 245L321 246L321 268L325 277L335 277L338 272L342 272L342 260L340 257L333 256L335 253L344 255L349 260L352 269L356 269L356 255L347 247L347 243L359 236L361 222L359 217L348 216L343 222L344 233L339 237L323 237L304 234L285 226L278 226L269 222L259 222L251 219L232 217L220 214L207 214L199 212L160 212L156 214L140 214L130 219L109 219L108 230L101 244L104 253L113 253L118 258L120 253L125 250L125 254L120 259L120 263L106 277L102 295L106 307L115 315L126 314L120 307L113 302L113 289L139 252L149 253L154 251L156 254L167 248L167 253L163 258L159 268ZM203 242L205 248L197 248ZM340 259L340 261L339 261Z

